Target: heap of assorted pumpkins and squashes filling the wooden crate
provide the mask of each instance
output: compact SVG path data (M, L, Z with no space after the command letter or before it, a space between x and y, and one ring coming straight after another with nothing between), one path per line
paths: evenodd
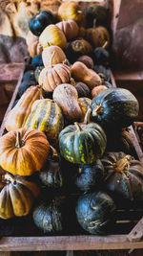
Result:
M83 13L71 1L31 17L31 70L0 138L0 218L31 212L43 232L59 232L70 222L65 198L76 195L76 221L97 235L120 201L142 198L143 166L127 130L139 106L110 82L107 19L104 7Z

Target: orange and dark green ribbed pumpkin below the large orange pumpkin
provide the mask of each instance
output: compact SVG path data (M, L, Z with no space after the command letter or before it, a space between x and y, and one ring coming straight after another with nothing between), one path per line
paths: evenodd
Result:
M0 218L5 220L28 215L40 192L36 183L10 174L2 175L1 187Z

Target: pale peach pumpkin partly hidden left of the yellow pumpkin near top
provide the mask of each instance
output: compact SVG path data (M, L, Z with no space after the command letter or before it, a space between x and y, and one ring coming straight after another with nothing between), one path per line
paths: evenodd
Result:
M27 43L28 52L31 58L33 58L36 55L40 55L42 53L42 47L39 45L39 37L36 35L33 35L31 31L29 31L26 37L26 43Z

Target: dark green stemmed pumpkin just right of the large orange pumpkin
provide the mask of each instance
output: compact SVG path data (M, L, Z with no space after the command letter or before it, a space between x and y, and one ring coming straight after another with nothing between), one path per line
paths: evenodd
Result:
M49 188L59 189L63 185L60 157L57 151L52 147L46 164L41 172L39 172L39 178L42 184Z

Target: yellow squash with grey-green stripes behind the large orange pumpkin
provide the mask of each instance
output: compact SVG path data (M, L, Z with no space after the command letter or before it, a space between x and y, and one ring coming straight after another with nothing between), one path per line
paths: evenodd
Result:
M39 129L53 143L57 143L59 132L64 128L61 108L50 99L35 101L31 107L25 128Z

